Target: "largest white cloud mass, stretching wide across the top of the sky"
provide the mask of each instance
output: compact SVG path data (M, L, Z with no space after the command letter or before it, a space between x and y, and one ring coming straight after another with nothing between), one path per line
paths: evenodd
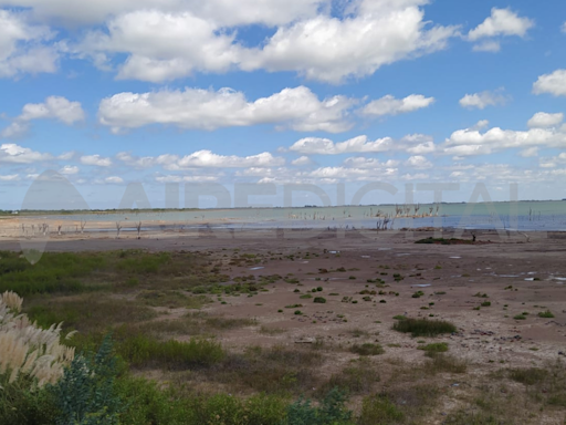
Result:
M376 7L375 0L359 0L342 19L331 17L328 0L193 0L188 8L139 7L114 14L106 30L88 32L67 50L105 70L113 68L112 56L126 54L118 79L163 82L195 72L263 69L339 83L444 49L458 29L430 27L420 8L427 2L380 1ZM244 46L235 29L253 22L279 27L264 43Z

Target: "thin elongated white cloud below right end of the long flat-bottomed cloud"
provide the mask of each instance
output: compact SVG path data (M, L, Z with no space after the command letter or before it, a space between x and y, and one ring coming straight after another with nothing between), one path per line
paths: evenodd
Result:
M357 136L346 142L334 143L329 138L304 137L295 142L290 148L305 155L338 155L348 153L380 153L388 151L407 151L409 153L430 153L434 144L428 136L413 134L395 141L391 137L370 141L367 136Z

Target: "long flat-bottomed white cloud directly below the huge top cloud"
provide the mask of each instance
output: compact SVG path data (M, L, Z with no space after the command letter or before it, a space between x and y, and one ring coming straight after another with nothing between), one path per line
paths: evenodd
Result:
M214 129L228 126L275 124L296 131L348 129L348 110L355 101L333 96L319 101L305 86L284 89L270 97L249 102L242 92L221 89L163 90L151 93L119 93L101 102L102 124L117 132L149 124L181 128Z

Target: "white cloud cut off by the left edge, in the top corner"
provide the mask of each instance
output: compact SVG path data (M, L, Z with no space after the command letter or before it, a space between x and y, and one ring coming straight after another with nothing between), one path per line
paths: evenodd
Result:
M29 23L27 18L23 12L0 9L0 77L56 70L55 49L42 44L54 33L45 25Z

